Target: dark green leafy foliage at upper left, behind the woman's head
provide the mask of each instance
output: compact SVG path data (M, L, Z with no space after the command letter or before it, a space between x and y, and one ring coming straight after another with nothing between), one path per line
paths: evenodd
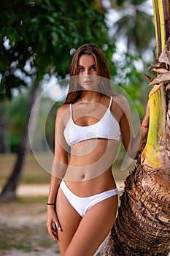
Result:
M96 1L3 0L0 23L1 99L47 73L65 78L74 49L85 42L104 48L108 60L115 49Z

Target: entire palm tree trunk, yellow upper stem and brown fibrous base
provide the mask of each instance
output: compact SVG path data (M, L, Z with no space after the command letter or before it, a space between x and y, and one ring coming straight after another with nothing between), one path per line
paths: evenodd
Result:
M150 83L147 143L125 180L115 225L98 256L170 252L170 3L153 0L153 7L158 58L151 65L157 76Z

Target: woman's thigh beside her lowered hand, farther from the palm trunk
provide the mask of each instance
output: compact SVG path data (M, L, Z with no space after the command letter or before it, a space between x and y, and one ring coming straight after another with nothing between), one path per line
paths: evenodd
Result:
M64 252L72 241L82 217L71 206L69 200L67 200L60 188L58 189L57 196L57 216L62 228L61 231L58 231L58 246L60 248L61 255L64 255Z

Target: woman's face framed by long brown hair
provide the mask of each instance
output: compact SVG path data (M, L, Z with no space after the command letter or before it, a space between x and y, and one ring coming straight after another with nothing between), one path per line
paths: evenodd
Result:
M99 83L96 61L92 55L82 55L79 60L79 83L85 90L96 90Z

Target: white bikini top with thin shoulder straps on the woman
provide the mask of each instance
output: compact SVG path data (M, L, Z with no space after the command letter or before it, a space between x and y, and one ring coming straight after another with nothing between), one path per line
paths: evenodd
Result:
M93 138L106 138L120 140L120 126L117 120L112 116L110 106L112 97L110 98L109 108L102 118L96 123L85 127L81 127L74 123L72 115L72 103L70 104L70 118L64 129L64 137L69 146L73 146L82 140Z

